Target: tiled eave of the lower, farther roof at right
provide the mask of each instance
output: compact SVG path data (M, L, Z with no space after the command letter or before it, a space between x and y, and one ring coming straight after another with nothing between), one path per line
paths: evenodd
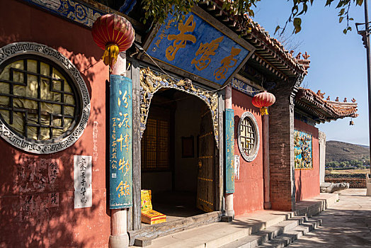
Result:
M299 88L295 96L295 107L313 115L317 123L358 117L357 103L326 101L322 97L310 89Z

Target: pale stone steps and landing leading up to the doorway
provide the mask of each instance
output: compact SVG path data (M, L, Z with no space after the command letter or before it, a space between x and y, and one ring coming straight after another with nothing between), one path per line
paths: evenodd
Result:
M163 231L161 223L148 232L151 237L138 233L133 248L285 247L321 225L321 220L314 215L337 201L337 193L321 193L321 196L297 203L293 212L261 210L240 215L232 222L214 222L188 230L186 225L182 225L183 230L173 227L171 233L167 232L169 234L163 237L152 237L154 233ZM171 227L174 223L168 225Z

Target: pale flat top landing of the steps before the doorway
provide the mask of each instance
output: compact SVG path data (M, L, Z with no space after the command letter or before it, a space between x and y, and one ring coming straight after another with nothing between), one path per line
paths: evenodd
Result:
M311 217L320 213L338 201L337 193L321 193L316 198L297 203L296 210L285 212L278 210L262 210L249 215L236 217L233 222L216 222L173 235L152 239L149 248L159 247L222 247L238 239L265 230L268 227L294 218L295 216ZM249 238L249 237L247 237ZM147 244L149 244L147 242Z

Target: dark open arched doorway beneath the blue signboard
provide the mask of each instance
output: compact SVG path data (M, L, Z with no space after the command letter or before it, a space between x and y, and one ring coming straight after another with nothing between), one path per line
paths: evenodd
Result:
M141 141L142 189L167 221L215 210L215 137L210 109L176 89L154 94Z

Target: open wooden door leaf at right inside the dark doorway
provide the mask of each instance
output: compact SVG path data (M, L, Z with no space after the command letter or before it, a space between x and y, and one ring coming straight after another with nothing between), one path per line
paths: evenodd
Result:
M215 210L215 140L209 108L201 115L198 141L197 208L205 212Z

